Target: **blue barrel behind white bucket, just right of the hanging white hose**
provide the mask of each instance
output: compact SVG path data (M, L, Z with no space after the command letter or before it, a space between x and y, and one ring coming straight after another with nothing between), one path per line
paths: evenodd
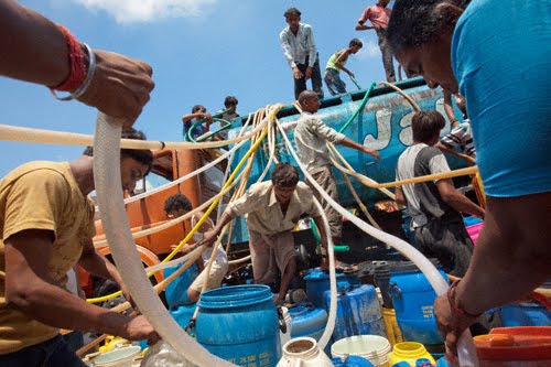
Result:
M328 309L331 291L326 291L324 298ZM372 285L350 285L337 295L337 317L333 341L354 335L387 337L379 299Z

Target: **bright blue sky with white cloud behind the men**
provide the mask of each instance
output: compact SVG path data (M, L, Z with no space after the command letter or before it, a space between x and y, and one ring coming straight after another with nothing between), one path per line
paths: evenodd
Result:
M152 140L181 140L182 115L196 104L217 111L227 95L237 96L241 115L268 104L291 102L291 69L279 43L279 33L287 26L283 12L290 7L299 8L302 22L314 29L322 74L335 51L346 46L350 39L359 37L364 48L350 57L347 67L364 87L385 79L377 36L372 31L354 30L363 10L375 0L24 0L21 3L66 25L93 47L151 64L156 86L134 126ZM343 79L348 90L356 88L347 75ZM75 101L56 101L44 87L0 78L0 123L94 133L95 110ZM82 150L0 141L0 176L32 160L72 160Z

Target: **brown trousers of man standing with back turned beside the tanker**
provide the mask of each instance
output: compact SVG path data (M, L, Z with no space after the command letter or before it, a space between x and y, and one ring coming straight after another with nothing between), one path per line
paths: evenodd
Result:
M331 168L328 165L323 165L316 169L314 173L312 173L312 177L314 177L320 186L322 186L322 188L327 192L331 198L338 203L337 184L335 183L335 176L333 176L333 172L331 171ZM315 198L317 198L320 204L322 204L323 211L327 216L327 220L329 222L331 237L341 238L343 234L343 216L338 214L338 212L325 199L322 198L322 195L320 195L314 186L312 186L310 183L309 186L310 188L312 188Z

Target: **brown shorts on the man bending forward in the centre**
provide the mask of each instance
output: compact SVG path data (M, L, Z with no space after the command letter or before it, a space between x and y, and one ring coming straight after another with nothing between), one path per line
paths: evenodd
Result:
M294 257L294 239L290 230L274 235L249 230L249 247L255 282L259 284L273 283L276 267L283 273Z

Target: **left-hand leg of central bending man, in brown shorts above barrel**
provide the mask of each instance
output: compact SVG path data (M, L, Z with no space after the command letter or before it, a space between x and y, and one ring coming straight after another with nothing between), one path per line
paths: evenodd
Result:
M276 263L263 235L249 229L249 249L255 283L271 284L276 281Z

